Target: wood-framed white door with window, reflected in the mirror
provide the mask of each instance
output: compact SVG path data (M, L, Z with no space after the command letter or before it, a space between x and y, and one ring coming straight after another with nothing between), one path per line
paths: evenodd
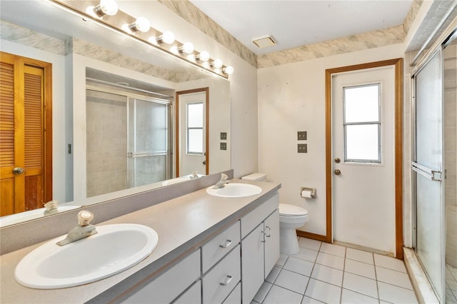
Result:
M176 176L208 174L208 90L178 92Z

